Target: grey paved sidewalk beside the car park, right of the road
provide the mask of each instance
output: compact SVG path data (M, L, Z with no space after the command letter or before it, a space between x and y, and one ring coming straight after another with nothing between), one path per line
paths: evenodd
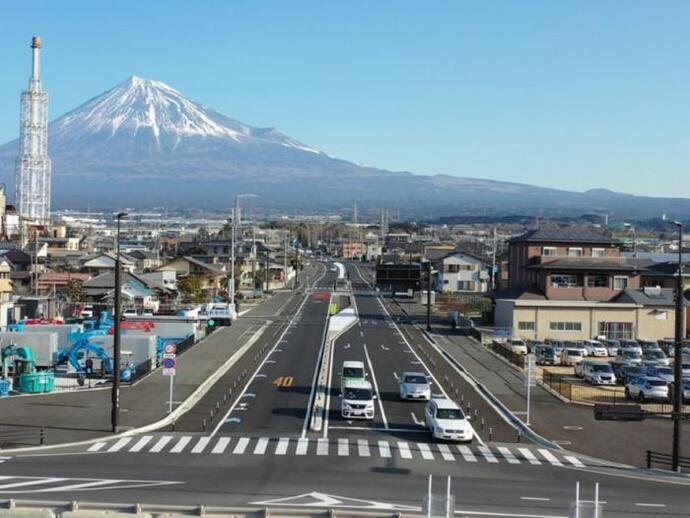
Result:
M397 300L397 299L396 299ZM426 322L426 308L411 300L398 300L410 318ZM494 356L476 340L458 335L449 322L432 320L436 343L513 412L526 409L522 373ZM645 451L670 452L670 421L639 423L596 421L591 406L565 403L540 386L532 387L531 428L566 449L613 462L642 465ZM690 432L684 428L683 451L690 450Z

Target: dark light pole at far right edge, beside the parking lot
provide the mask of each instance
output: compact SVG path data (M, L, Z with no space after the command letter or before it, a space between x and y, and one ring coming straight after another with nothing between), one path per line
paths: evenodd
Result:
M676 336L673 361L673 471L680 471L680 426L683 412L683 224L678 228L678 277L676 278Z

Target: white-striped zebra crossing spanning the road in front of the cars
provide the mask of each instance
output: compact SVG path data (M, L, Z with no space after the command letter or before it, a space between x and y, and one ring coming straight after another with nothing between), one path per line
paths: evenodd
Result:
M228 455L275 455L359 457L371 459L442 460L490 464L531 464L585 467L574 455L525 445L484 446L452 443L424 443L368 439L312 439L308 437L208 437L198 435L144 435L111 442L93 443L89 452L101 453L188 453Z

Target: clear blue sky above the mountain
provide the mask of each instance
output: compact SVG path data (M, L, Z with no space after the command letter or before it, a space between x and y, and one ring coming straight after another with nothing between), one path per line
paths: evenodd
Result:
M34 34L51 119L139 75L357 163L690 197L684 0L4 2L0 142Z

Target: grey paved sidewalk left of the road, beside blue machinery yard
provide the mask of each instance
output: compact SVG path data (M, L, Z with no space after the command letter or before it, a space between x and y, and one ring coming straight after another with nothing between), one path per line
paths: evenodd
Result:
M173 407L187 399L197 387L249 340L256 345L269 342L282 325L281 312L290 307L292 292L276 293L252 307L231 327L219 328L178 356L174 377ZM241 364L247 354L238 359ZM169 378L160 369L133 386L121 385L120 429L138 428L167 415ZM203 400L203 398L202 398ZM12 436L5 448L37 446L38 428L45 429L45 444L60 444L102 437L111 433L111 388L28 395L0 399L0 442L3 433ZM26 439L16 439L22 430Z

